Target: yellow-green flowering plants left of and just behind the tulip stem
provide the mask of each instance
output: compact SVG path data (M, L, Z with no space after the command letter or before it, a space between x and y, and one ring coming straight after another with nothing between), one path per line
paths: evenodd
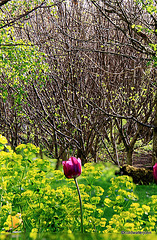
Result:
M21 144L15 152L6 146L1 136L1 231L7 230L9 215L22 214L22 231L79 231L79 202L74 181L66 180L63 172L55 171L48 160L35 156L39 149L32 144ZM7 149L5 151L4 149ZM100 178L100 169L86 166L85 176L91 170ZM84 177L85 177L84 176ZM86 177L88 179L88 177ZM60 181L60 186L56 182ZM64 182L64 187L63 187ZM89 181L90 182L90 179ZM84 203L86 232L102 231L106 219L97 208L104 190L100 186L80 184Z

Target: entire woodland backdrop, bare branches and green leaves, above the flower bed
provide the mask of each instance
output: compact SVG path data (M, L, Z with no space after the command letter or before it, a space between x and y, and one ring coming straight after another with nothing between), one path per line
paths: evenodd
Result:
M83 164L157 162L157 2L0 1L0 132ZM123 156L123 157L122 157Z

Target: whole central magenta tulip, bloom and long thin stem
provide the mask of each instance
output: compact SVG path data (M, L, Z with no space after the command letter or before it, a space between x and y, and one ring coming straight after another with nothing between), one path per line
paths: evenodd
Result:
M81 159L76 159L75 157L70 157L68 161L63 161L63 170L64 175L66 178L74 178L77 192L79 195L79 202L80 202L80 214L81 214L81 232L83 233L83 210L82 210L82 200L81 200L81 194L79 190L79 186L77 183L77 177L81 175L82 167L81 167Z

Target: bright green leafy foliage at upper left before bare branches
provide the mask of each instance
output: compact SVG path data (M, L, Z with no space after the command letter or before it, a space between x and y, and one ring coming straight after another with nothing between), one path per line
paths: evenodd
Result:
M28 104L28 86L38 80L37 86L43 88L45 73L49 67L38 47L18 40L14 35L15 30L12 27L0 30L0 76L3 76L0 95L3 102L12 98L11 108L16 109L18 116L22 116L22 106ZM11 95L8 89L12 89Z

